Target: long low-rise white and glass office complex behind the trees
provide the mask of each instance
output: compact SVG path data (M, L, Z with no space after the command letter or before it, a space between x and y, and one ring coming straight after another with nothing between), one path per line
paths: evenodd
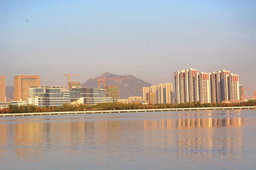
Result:
M61 107L67 104L111 103L112 98L106 96L105 89L99 88L71 88L63 86L33 86L28 90L29 97L26 101L12 101L14 106L35 105L39 107Z

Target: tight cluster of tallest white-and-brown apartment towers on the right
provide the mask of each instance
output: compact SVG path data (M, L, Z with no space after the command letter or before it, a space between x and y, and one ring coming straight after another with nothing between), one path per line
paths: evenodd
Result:
M196 69L174 72L176 103L201 101L221 103L239 100L238 75L225 69L218 72L198 73Z

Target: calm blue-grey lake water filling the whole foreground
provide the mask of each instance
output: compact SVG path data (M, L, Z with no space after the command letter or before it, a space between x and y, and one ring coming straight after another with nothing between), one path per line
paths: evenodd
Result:
M256 110L0 118L0 168L256 169Z

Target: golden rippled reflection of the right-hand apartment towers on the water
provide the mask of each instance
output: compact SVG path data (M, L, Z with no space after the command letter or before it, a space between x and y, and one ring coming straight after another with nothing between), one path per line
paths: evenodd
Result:
M144 120L144 130L174 130L172 135L160 135L169 142L169 147L163 149L176 148L177 160L184 166L191 166L187 164L188 160L192 164L213 159L239 162L242 158L242 125L245 125L245 120L240 117ZM159 144L161 138L150 135L144 140Z

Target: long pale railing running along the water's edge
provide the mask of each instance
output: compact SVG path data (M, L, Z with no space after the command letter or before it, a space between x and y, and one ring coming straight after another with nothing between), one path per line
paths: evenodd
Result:
M26 116L26 115L78 115L78 114L102 114L102 113L142 113L142 112L171 112L171 111L215 111L233 109L252 109L256 106L237 106L237 107L212 107L212 108L153 108L153 109L134 109L134 110L108 110L108 111L66 111L66 112L41 112L41 113L0 113L0 117L7 116Z

